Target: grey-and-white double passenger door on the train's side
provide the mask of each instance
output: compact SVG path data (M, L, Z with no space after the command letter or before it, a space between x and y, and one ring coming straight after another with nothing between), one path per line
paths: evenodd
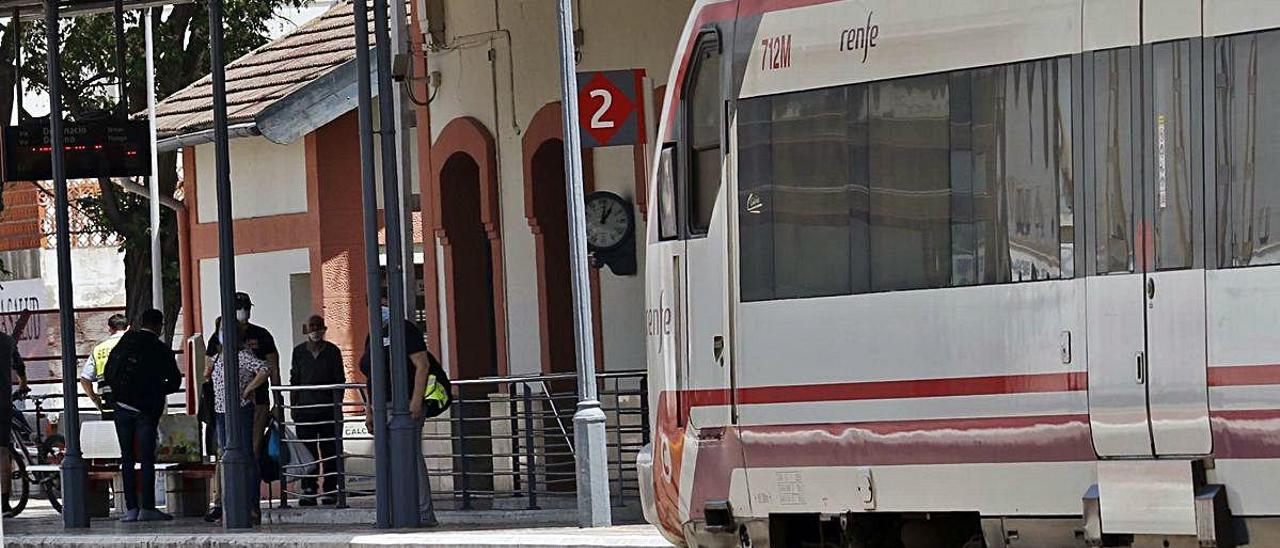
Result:
M1087 352L1102 457L1212 449L1201 44L1087 54Z

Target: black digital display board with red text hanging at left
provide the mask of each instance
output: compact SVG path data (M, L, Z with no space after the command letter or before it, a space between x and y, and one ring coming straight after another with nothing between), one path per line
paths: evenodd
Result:
M68 179L151 174L146 120L65 122L63 136ZM4 179L17 182L52 178L49 122L4 128Z

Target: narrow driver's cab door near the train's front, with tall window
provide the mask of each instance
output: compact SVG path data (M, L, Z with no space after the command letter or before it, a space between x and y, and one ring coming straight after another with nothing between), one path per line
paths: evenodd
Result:
M685 389L694 391L694 428L732 420L732 365L728 341L728 223L723 184L724 95L722 38L709 27L690 54L681 104L681 202L685 204ZM691 402L694 403L694 402Z

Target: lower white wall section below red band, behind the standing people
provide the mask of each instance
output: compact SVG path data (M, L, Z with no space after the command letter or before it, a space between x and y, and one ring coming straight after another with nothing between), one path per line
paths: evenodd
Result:
M280 350L280 378L288 380L294 341L293 303L289 275L311 271L311 254L306 248L248 254L236 256L236 289L253 300L250 321L266 328ZM200 261L201 326L207 341L214 320L221 314L218 259Z

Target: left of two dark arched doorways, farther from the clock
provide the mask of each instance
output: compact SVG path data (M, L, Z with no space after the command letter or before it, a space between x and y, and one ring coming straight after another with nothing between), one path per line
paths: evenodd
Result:
M444 161L440 198L457 375L493 376L498 374L494 250L480 216L480 165L466 152L454 152Z

